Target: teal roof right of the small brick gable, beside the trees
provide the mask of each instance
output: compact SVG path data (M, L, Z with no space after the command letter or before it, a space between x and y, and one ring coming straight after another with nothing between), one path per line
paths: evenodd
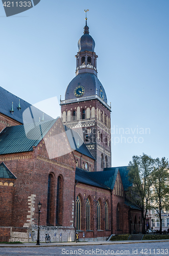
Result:
M129 173L129 166L119 166L119 167L110 167L110 168L104 168L104 172L110 172L115 169L119 170L122 182L123 182L123 187L126 190L129 186L132 185L132 183L129 181L128 178L128 173Z

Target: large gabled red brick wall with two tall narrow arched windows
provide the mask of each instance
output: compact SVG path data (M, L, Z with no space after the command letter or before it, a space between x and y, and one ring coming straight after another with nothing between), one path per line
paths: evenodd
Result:
M54 125L49 133L46 134L37 147L33 148L33 152L18 153L0 156L0 162L4 161L6 166L17 177L15 181L15 194L13 205L13 221L12 226L23 227L30 219L31 195L35 195L33 222L38 223L37 203L41 201L42 212L40 225L46 225L46 208L47 208L47 183L50 173L55 177L54 189L54 225L56 224L56 194L58 176L63 177L63 204L62 204L62 225L70 226L73 224L72 211L74 207L74 184L75 184L75 168L76 162L72 152L67 153L53 159L49 159L45 143L50 136L61 134L63 126L59 120L58 125ZM56 129L55 129L56 128ZM49 137L48 137L49 135ZM70 147L66 137L61 136L57 142L57 151L60 152L62 147ZM68 144L68 145L67 145ZM55 151L56 148L52 148ZM57 155L56 155L57 156ZM71 221L71 222L70 222Z

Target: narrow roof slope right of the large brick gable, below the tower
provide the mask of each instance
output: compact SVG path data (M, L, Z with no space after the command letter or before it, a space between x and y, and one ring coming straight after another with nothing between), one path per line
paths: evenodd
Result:
M76 150L77 152L95 160L95 158L91 155L87 146L85 145L85 143L81 139L80 135L77 132L75 132L74 130L71 130L66 125L64 125L64 129L66 131L66 135L67 135L67 138L69 140L71 148L73 150Z

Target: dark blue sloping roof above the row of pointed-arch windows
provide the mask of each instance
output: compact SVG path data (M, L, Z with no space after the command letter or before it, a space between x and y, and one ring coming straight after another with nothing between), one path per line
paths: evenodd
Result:
M91 177L91 174L92 173L86 172L86 170L76 168L75 180L78 181L78 182L84 183L84 184L91 185L91 186L110 189L107 186L105 186L103 183L101 183L99 180Z

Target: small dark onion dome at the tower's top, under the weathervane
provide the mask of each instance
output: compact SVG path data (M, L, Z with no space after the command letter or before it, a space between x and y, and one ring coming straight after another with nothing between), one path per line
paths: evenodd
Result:
M89 27L84 27L84 35L78 41L79 52L89 51L94 52L95 42L94 39L89 35Z

